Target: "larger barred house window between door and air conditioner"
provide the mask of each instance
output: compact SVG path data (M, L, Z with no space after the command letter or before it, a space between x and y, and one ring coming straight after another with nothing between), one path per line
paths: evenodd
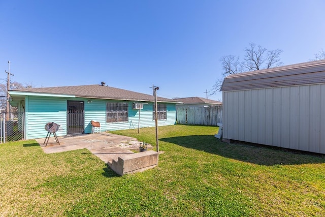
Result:
M127 108L127 103L106 103L106 122L114 123L128 121Z

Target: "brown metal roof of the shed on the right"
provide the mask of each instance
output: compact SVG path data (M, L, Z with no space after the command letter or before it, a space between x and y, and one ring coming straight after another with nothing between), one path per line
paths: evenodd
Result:
M224 78L221 91L325 83L325 60L233 74Z

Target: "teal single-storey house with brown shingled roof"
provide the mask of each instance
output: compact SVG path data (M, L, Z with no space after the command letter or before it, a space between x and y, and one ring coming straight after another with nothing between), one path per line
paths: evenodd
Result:
M10 104L24 113L25 139L45 138L47 122L60 125L57 136L155 126L154 97L101 85L62 86L10 90ZM176 101L157 97L158 126L176 123Z

